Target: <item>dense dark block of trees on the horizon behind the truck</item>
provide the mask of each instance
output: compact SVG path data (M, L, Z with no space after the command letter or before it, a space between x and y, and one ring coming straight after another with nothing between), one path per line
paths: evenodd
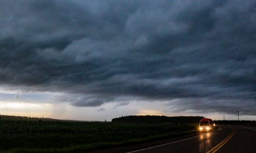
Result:
M158 115L131 115L112 119L113 123L199 123L203 116L158 116Z

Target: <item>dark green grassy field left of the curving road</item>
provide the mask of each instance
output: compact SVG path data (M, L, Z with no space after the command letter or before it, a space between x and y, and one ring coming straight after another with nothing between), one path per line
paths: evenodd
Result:
M194 133L192 124L0 119L2 153L77 153Z

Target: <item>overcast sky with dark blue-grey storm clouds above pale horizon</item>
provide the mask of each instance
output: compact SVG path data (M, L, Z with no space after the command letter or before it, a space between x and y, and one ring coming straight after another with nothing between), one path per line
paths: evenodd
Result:
M0 0L0 114L236 111L256 120L255 0Z

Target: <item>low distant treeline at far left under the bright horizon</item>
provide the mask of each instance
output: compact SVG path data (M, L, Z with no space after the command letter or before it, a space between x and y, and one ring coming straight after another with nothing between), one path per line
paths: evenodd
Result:
M31 120L31 121L55 121L58 119L44 118L44 117L27 117L27 116L11 116L11 115L0 115L0 119L17 119L17 120Z

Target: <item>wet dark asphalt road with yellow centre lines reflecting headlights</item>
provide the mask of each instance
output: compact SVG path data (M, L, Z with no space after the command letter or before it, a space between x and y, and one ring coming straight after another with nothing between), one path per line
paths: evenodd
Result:
M220 125L218 130L198 136L154 146L138 148L138 145L98 151L101 153L256 153L256 129Z

